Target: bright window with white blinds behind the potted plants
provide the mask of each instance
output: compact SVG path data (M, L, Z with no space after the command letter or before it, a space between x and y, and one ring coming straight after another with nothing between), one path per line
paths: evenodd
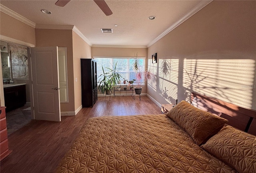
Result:
M116 64L116 70L118 70L118 72L120 72L120 74L122 75L122 78L126 79L126 80L133 80L136 79L136 74L133 71L132 65L134 62L134 59L132 59L131 57L97 57L94 58L94 60L96 60L97 62L97 76L98 76L98 82L100 80L99 76L101 74L103 74L102 71L102 67L104 68L104 72L108 72L107 68L113 68L113 66ZM141 71L145 71L145 58L141 57L139 58L139 62L140 62L140 67L141 67ZM123 81L123 79L120 79L121 81ZM143 81L143 79L142 79ZM135 82L136 83L136 82ZM144 85L144 83L142 84Z

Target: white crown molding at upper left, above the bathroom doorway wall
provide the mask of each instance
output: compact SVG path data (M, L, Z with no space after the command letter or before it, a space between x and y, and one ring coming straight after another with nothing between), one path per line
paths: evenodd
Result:
M30 20L28 20L27 18L24 18L23 16L21 16L20 14L12 11L10 8L7 8L6 6L3 6L2 4L0 4L0 11L4 12L5 14L19 20L20 22L23 22L24 24L27 24L33 28L36 27L36 24Z

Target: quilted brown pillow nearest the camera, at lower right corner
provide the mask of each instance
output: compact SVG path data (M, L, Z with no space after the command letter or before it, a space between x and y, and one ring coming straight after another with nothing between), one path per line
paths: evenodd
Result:
M227 125L202 147L239 173L256 171L256 136Z

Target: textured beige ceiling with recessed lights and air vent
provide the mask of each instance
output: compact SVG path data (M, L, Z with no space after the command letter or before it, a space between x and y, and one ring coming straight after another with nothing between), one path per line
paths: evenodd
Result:
M106 0L112 10L106 16L93 0L0 0L0 4L38 24L74 25L94 45L148 46L170 26L186 16L201 0ZM43 14L40 10L50 10ZM148 16L156 16L148 20ZM114 25L118 26L115 27ZM100 28L113 28L102 33Z

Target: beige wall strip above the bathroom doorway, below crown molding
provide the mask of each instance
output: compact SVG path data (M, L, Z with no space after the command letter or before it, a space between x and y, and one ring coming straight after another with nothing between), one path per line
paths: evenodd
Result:
M0 12L0 21L0 35L33 45L36 44L35 28L3 12Z

